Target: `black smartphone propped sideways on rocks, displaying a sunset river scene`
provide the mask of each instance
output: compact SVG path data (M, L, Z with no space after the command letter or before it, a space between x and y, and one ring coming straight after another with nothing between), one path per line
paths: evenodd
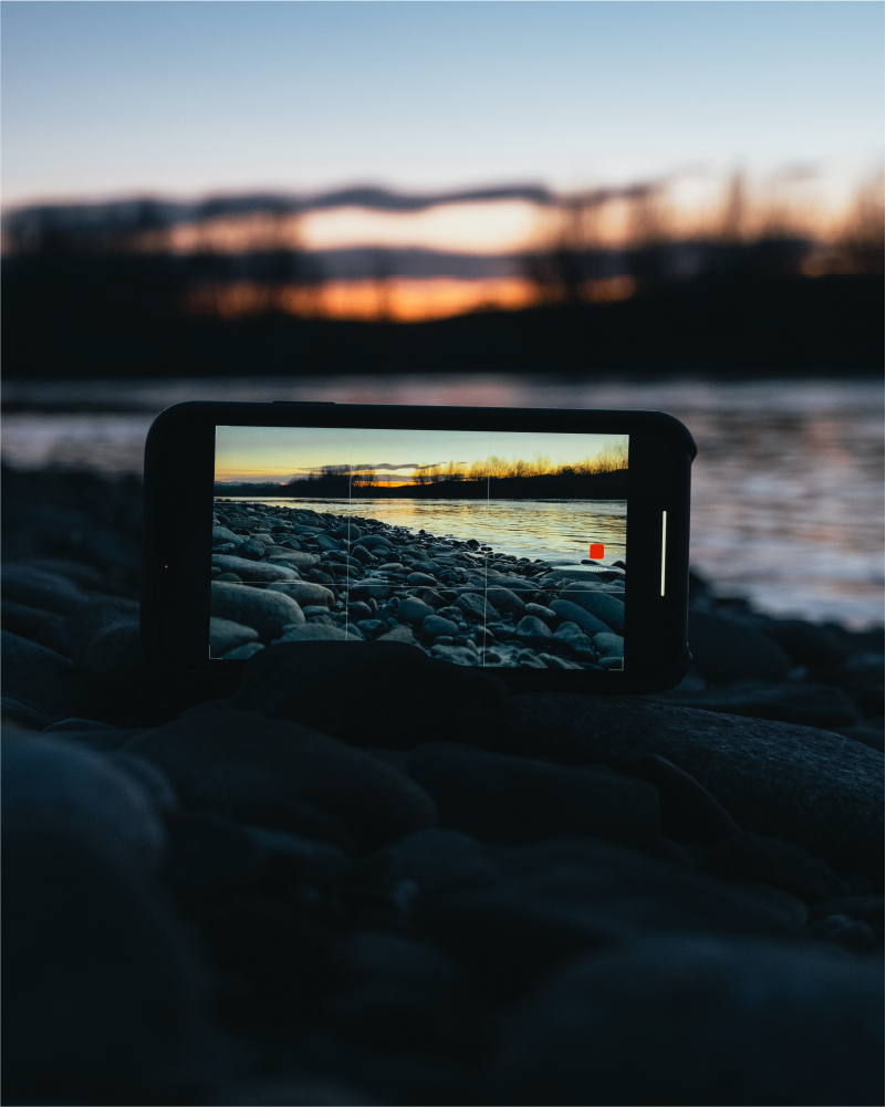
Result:
M144 649L236 681L276 643L405 642L516 691L671 687L694 455L658 412L177 404L145 447Z

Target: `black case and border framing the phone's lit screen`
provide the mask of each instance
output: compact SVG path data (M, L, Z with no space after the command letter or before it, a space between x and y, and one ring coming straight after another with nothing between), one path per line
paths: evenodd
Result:
M689 494L696 445L659 412L186 403L163 412L145 446L142 641L166 670L234 686L245 662L208 658L215 427L332 426L630 435L625 671L494 666L512 692L650 693L689 668ZM662 511L667 559L662 569ZM667 586L667 587L666 587ZM659 594L659 589L663 596ZM318 642L317 649L327 643ZM354 643L353 646L358 646ZM353 648L349 645L349 648Z

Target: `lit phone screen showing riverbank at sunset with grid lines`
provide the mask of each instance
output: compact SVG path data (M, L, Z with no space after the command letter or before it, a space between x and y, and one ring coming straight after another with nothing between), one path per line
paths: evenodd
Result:
M217 426L209 655L625 669L627 435Z

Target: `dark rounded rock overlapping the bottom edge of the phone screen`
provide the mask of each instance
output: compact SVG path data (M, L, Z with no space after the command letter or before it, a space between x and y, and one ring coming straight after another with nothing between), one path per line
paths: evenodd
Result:
M477 745L503 742L506 699L498 677L382 637L265 650L250 659L231 704L354 745L409 749L453 734Z

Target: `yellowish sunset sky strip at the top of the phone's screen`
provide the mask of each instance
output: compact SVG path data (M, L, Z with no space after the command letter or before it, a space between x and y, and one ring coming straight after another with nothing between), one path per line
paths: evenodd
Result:
M288 480L327 465L387 470L408 480L421 467L495 455L552 465L596 456L621 437L516 431L348 430L341 427L216 427L216 480Z

